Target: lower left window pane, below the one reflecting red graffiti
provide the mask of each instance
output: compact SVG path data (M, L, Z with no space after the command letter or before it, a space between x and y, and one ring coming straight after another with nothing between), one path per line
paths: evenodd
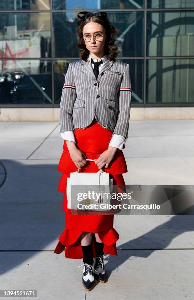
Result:
M0 60L0 104L52 104L51 61Z

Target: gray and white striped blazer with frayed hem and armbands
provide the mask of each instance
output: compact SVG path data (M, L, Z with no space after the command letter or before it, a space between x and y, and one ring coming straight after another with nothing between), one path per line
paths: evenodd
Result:
M129 64L103 63L96 80L91 63L69 63L60 102L60 132L86 128L94 117L115 134L128 137L131 81Z

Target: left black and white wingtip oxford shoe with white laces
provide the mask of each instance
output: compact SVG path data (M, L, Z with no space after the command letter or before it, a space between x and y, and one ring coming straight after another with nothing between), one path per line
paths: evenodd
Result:
M86 263L81 265L84 266L83 275L82 275L82 284L86 291L91 291L91 289L93 289L93 287L95 286L94 263L95 260L93 259L93 265L89 265Z

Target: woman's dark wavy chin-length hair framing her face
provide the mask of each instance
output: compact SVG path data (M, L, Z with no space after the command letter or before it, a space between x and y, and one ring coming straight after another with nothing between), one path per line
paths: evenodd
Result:
M105 42L105 55L107 55L107 58L109 61L115 61L115 58L117 57L117 55L120 53L118 52L118 47L115 44L115 34L117 32L119 32L119 29L115 28L110 21L108 20L108 18L102 18L100 16L89 16L88 18L86 18L86 20L81 20L79 19L77 22L77 38L78 38L78 43L77 43L77 47L79 49L80 52L80 56L82 60L87 61L88 55L89 55L89 50L86 48L85 42L84 42L84 38L83 38L83 27L89 23L89 22L96 22L101 24L104 28L105 28L105 32L106 32L106 42Z

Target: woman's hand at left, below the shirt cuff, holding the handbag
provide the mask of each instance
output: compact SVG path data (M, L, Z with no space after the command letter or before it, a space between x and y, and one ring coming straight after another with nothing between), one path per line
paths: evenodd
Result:
M72 141L66 141L69 154L71 156L71 159L75 163L77 168L81 168L86 164L86 154L82 152L79 148L76 147L75 143Z

